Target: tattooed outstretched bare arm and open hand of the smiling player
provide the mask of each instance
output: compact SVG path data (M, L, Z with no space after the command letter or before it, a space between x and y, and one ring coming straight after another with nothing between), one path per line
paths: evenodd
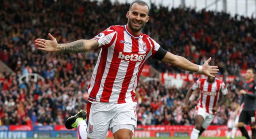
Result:
M77 40L70 43L58 44L57 40L48 34L51 40L37 39L35 45L38 49L45 52L66 52L66 53L80 53L88 52L98 47L98 41L90 40Z

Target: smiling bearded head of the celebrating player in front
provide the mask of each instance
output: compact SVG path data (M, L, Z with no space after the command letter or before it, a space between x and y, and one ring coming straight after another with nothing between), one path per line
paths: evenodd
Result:
M134 3L127 12L126 17L128 18L128 26L131 31L139 32L149 20L148 8L146 5L142 6Z

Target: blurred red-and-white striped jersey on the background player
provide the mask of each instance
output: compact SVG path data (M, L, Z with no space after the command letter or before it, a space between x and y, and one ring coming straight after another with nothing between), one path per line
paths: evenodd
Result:
M215 114L212 112L213 107L217 105L220 93L222 95L228 94L228 89L222 80L215 78L213 83L209 83L207 78L198 79L192 86L193 90L199 88L200 95L197 100L198 107L205 108L206 112L209 114Z

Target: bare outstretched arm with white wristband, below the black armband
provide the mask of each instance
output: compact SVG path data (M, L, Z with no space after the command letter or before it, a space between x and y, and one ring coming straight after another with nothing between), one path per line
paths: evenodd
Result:
M162 61L172 64L173 66L179 67L186 71L190 72L198 72L202 73L207 76L215 77L213 74L218 73L219 69L217 66L210 66L209 62L212 58L209 58L207 61L204 62L202 66L194 64L187 60L184 57L174 55L170 52L167 52L165 57L163 57Z

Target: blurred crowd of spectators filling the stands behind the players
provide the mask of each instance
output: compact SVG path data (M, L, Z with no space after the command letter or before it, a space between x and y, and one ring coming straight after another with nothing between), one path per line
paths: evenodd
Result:
M86 110L87 86L98 51L68 54L44 53L34 45L47 33L59 43L90 39L110 25L125 25L129 4L96 1L2 1L0 4L0 59L14 73L0 73L0 119L3 125L61 125L78 110ZM241 69L256 68L256 20L230 17L225 13L159 7L152 4L150 21L143 33L163 48L203 64L209 56L219 74L238 75ZM165 19L165 20L162 20ZM159 72L183 72L170 64L151 59ZM26 73L37 73L45 81L18 82ZM237 103L235 92L241 81L228 84L230 99L219 108L213 124L226 124L229 107ZM138 124L194 124L196 101L189 110L183 103L191 82L181 88L165 88L158 81L140 82L137 88ZM196 95L195 95L196 96Z

